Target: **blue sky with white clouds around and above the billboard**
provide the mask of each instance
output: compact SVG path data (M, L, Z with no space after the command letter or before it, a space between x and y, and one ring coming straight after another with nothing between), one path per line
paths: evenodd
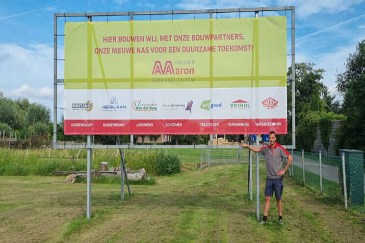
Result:
M336 74L345 69L346 58L365 39L365 0L0 0L0 91L13 99L28 98L53 112L53 14L75 12L117 12L219 9L240 7L295 6L295 61L313 62L324 69L323 82L331 94L336 90ZM259 16L285 15L260 12ZM290 26L290 12L287 24ZM197 15L196 18L207 18ZM254 13L215 14L218 18L254 17ZM170 19L172 16L153 16ZM174 16L174 19L194 18ZM150 16L136 16L146 20ZM100 17L94 21L127 20L126 17ZM58 19L58 33L64 23L82 18ZM287 38L291 53L290 32ZM58 58L64 58L64 39L58 37ZM287 58L288 65L291 63ZM58 78L63 78L63 62L58 62ZM63 108L63 86L58 85L58 107ZM58 112L58 121L62 110Z

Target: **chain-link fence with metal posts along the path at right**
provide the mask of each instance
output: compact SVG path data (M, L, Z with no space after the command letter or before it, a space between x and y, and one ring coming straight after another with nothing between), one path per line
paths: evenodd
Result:
M294 151L291 177L321 194L329 195L345 208L351 207L365 213L364 159L361 151L355 156L354 151L358 150L344 150L343 158Z

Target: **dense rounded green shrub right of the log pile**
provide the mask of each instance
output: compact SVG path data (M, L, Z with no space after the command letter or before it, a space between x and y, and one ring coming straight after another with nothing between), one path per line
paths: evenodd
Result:
M181 171L179 156L175 153L157 153L157 175L174 174Z

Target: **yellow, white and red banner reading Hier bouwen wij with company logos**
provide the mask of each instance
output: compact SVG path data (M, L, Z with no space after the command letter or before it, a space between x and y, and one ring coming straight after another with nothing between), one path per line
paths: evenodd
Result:
M286 17L65 24L65 134L287 133Z

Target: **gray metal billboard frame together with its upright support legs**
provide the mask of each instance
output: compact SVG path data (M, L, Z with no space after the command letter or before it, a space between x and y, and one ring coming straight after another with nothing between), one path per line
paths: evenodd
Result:
M291 11L291 26L287 28L291 30L291 53L287 54L291 56L291 70L295 70L295 7L294 6L284 6L284 7L258 7L258 8L227 8L227 9L205 9L205 10L171 10L171 11L131 11L131 12L94 12L94 13L55 13L53 15L53 148L55 149L67 149L67 148L79 148L79 149L87 149L87 207L86 207L86 216L88 219L91 218L91 149L93 148L104 148L104 149L115 149L115 148L236 148L236 146L213 146L212 145L212 135L210 135L210 143L209 145L157 145L157 146L143 146L143 145L133 145L133 135L130 135L130 145L94 145L91 143L91 135L87 135L87 144L84 145L60 145L57 144L57 85L64 84L64 79L59 79L57 77L57 63L58 61L64 61L64 59L57 58L57 39L59 36L64 36L62 34L58 34L57 32L57 20L58 18L66 17L82 17L87 19L87 21L92 21L92 17L109 17L109 16L129 16L129 20L133 20L134 15L139 16L152 16L152 15L178 15L178 14L209 14L209 19L213 18L213 14L221 13L247 13L253 12L255 13L255 17L259 17L259 12L268 12L268 11ZM173 19L173 18L172 18ZM295 149L295 72L291 73L291 76L287 77L287 80L291 81L291 98L292 98L292 106L291 106L291 127L292 127L292 144L284 146L287 149ZM294 115L293 115L294 114ZM259 140L256 140L256 145L259 146ZM257 157L256 163L259 163L259 156ZM251 163L250 163L251 164ZM251 166L252 168L252 166ZM252 169L251 169L252 170ZM252 172L252 171L250 171ZM256 172L259 174L259 167L256 167ZM249 183L252 185L252 177L249 178ZM260 192L259 192L259 177L256 178L256 213L257 220L260 219ZM124 193L124 189L122 188L121 194Z

